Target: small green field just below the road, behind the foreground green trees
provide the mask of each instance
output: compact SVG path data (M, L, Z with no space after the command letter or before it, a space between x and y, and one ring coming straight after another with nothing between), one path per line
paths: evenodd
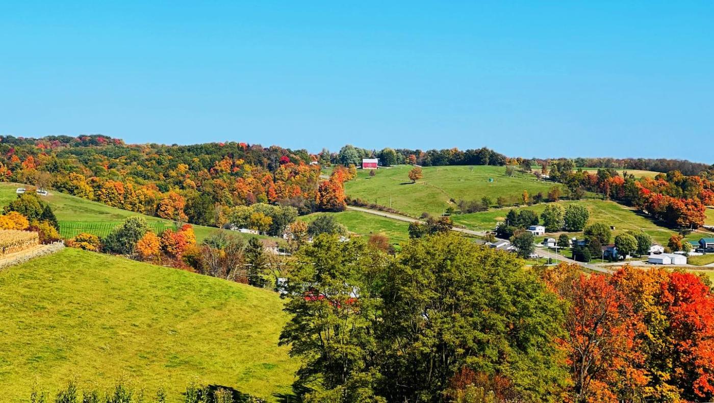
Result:
M362 213L361 211L347 210L341 213L314 213L303 215L298 219L310 223L321 214L332 215L349 232L357 235L383 234L389 238L390 243L396 244L406 243L409 240L409 223Z

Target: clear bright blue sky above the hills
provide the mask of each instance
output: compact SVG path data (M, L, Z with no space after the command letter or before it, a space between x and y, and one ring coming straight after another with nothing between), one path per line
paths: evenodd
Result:
M0 1L0 134L714 163L712 1Z

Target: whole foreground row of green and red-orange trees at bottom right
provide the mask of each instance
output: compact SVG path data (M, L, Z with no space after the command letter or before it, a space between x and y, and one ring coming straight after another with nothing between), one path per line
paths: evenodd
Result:
M291 263L305 402L673 402L714 393L714 296L687 272L526 270L454 234L396 256L326 235Z

